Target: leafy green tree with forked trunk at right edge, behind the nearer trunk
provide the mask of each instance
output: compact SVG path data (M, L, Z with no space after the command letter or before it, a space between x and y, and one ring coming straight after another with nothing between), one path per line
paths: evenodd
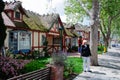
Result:
M120 0L101 0L100 1L100 21L99 27L105 47L108 48L111 39L111 33L116 34L119 31Z

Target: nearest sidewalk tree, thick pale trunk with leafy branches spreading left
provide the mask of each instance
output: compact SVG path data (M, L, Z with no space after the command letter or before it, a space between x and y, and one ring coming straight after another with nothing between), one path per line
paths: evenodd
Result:
M80 21L88 17L90 23L90 49L92 53L91 64L98 65L97 45L99 27L99 1L98 0L66 0L65 13L72 20ZM72 17L72 16L76 17Z

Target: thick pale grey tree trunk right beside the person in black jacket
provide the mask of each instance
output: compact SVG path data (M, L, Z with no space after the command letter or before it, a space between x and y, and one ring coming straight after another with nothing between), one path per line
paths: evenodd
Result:
M99 2L98 0L93 0L93 6L91 10L91 27L90 27L90 49L91 49L91 65L98 65L98 26L99 23Z

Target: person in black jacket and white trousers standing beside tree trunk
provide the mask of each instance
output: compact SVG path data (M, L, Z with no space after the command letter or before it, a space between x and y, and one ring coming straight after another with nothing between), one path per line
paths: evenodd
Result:
M90 70L91 51L90 51L89 45L87 44L87 40L83 40L83 44L82 44L82 48L81 48L81 56L83 58L84 72L92 72Z

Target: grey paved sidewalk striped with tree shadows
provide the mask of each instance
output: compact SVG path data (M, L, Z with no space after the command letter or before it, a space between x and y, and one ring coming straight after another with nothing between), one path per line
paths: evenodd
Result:
M92 72L83 72L73 80L120 80L120 49L109 49L98 58L100 66L91 66Z

